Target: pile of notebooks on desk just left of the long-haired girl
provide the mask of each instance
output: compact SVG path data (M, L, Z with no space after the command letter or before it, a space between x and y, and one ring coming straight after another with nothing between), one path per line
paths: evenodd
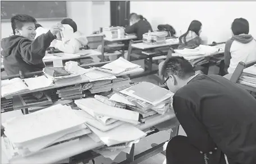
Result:
M147 44L164 44L167 34L161 31L148 32L143 34L143 42Z

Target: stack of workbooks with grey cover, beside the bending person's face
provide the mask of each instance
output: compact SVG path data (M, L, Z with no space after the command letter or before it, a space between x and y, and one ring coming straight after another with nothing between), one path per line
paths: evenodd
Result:
M166 113L172 103L172 92L149 82L141 82L125 89L116 88L113 91L116 93L109 100L126 104L128 109L138 111L143 118Z

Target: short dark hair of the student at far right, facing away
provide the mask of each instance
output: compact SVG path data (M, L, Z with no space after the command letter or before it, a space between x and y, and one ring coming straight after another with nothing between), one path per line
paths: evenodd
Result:
M234 35L248 34L249 22L245 18L236 18L232 23L231 30Z

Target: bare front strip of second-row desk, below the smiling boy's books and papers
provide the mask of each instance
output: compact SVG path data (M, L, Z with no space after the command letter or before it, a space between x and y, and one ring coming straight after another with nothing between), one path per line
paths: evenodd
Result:
M116 76L123 76L123 75L127 75L127 74L133 74L133 73L141 73L144 72L143 68L136 68L136 69L132 69L130 71L124 72L124 73L120 73L117 74ZM45 90L51 90L53 88L60 88L60 87L66 87L66 86L71 86L71 85L76 85L79 83L86 83L89 82L89 79L86 76L81 76L82 78L77 80L77 81L72 81L72 82L67 82L67 83L61 83L61 84L55 84L53 86L49 86L49 87L44 87L44 88L39 88L36 90L32 90L32 91L24 91L24 92L19 92L19 93L14 93L12 95L8 95L8 97L10 96L16 96L16 95L23 95L26 93L31 93L31 92L38 92L38 91L45 91Z

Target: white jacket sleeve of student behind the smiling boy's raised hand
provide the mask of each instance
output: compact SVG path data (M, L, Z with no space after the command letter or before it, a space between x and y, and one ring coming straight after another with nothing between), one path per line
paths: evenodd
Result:
M55 48L68 54L75 54L79 52L80 42L76 39L70 39L68 41L57 40Z

